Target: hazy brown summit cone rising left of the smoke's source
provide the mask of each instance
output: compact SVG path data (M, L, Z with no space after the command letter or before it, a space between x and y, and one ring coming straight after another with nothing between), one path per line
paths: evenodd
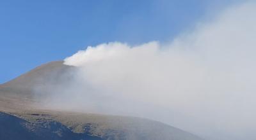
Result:
M10 94L30 96L33 94L33 87L56 85L60 81L68 81L68 78L71 78L71 76L68 77L68 71L71 69L74 67L65 66L62 61L49 62L0 85L0 89L11 92Z

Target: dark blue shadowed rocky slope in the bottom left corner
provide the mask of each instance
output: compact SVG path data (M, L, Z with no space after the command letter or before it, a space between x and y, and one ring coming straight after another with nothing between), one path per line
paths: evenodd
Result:
M100 140L102 138L85 133L74 133L60 122L39 119L28 122L17 116L0 112L0 139L4 140Z

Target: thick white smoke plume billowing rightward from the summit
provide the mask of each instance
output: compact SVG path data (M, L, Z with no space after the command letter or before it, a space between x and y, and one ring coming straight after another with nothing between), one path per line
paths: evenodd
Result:
M255 139L255 17L256 4L244 3L172 43L88 46L65 59L76 78L52 91L51 105L151 118L209 139Z

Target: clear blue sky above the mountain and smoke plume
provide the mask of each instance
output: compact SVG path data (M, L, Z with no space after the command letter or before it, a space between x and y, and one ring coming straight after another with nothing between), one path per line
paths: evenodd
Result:
M0 83L109 41L169 41L231 0L0 0Z

